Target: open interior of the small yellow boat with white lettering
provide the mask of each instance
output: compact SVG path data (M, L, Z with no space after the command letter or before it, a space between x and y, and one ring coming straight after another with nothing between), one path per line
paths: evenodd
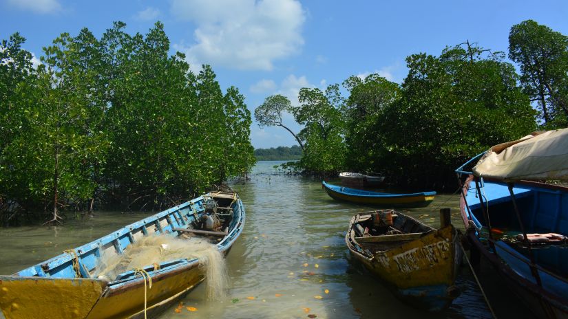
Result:
M363 251L371 252L371 255L435 231L417 219L395 210L375 210L357 214L354 218L351 240Z

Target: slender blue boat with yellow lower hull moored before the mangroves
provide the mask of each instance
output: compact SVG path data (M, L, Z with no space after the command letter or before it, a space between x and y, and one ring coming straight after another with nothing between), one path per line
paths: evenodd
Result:
M322 181L322 187L328 195L339 201L350 201L364 205L379 207L425 207L430 205L436 192L414 192L411 194L391 194L388 192L371 192L344 186L328 184Z

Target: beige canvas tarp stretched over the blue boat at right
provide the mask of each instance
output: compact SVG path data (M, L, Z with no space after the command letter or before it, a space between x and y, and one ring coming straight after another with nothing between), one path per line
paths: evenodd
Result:
M503 181L568 181L568 129L537 132L493 146L473 173Z

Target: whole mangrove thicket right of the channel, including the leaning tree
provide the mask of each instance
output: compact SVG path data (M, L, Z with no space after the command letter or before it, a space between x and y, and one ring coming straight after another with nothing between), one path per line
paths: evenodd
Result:
M453 170L465 159L536 129L536 111L503 59L467 42L408 56L402 86L371 74L344 81L348 98L338 85L301 89L299 106L273 108L304 126L302 159L287 167L381 172L399 187L454 190Z

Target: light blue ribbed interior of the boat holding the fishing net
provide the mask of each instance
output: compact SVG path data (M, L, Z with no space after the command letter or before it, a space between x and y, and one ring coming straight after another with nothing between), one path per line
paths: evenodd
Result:
M51 278L97 278L103 256L121 255L145 236L163 235L178 238L200 236L218 245L222 250L233 238L234 231L242 221L240 201L233 193L216 192L187 201L179 206L158 212L124 228L116 230L96 241L87 243L48 261L21 270L16 276L40 276ZM187 259L165 261L159 265L147 265L149 273L168 270L179 265L196 262ZM103 278L109 285L135 278L132 270L118 274L116 278ZM101 279L101 278L98 278Z

